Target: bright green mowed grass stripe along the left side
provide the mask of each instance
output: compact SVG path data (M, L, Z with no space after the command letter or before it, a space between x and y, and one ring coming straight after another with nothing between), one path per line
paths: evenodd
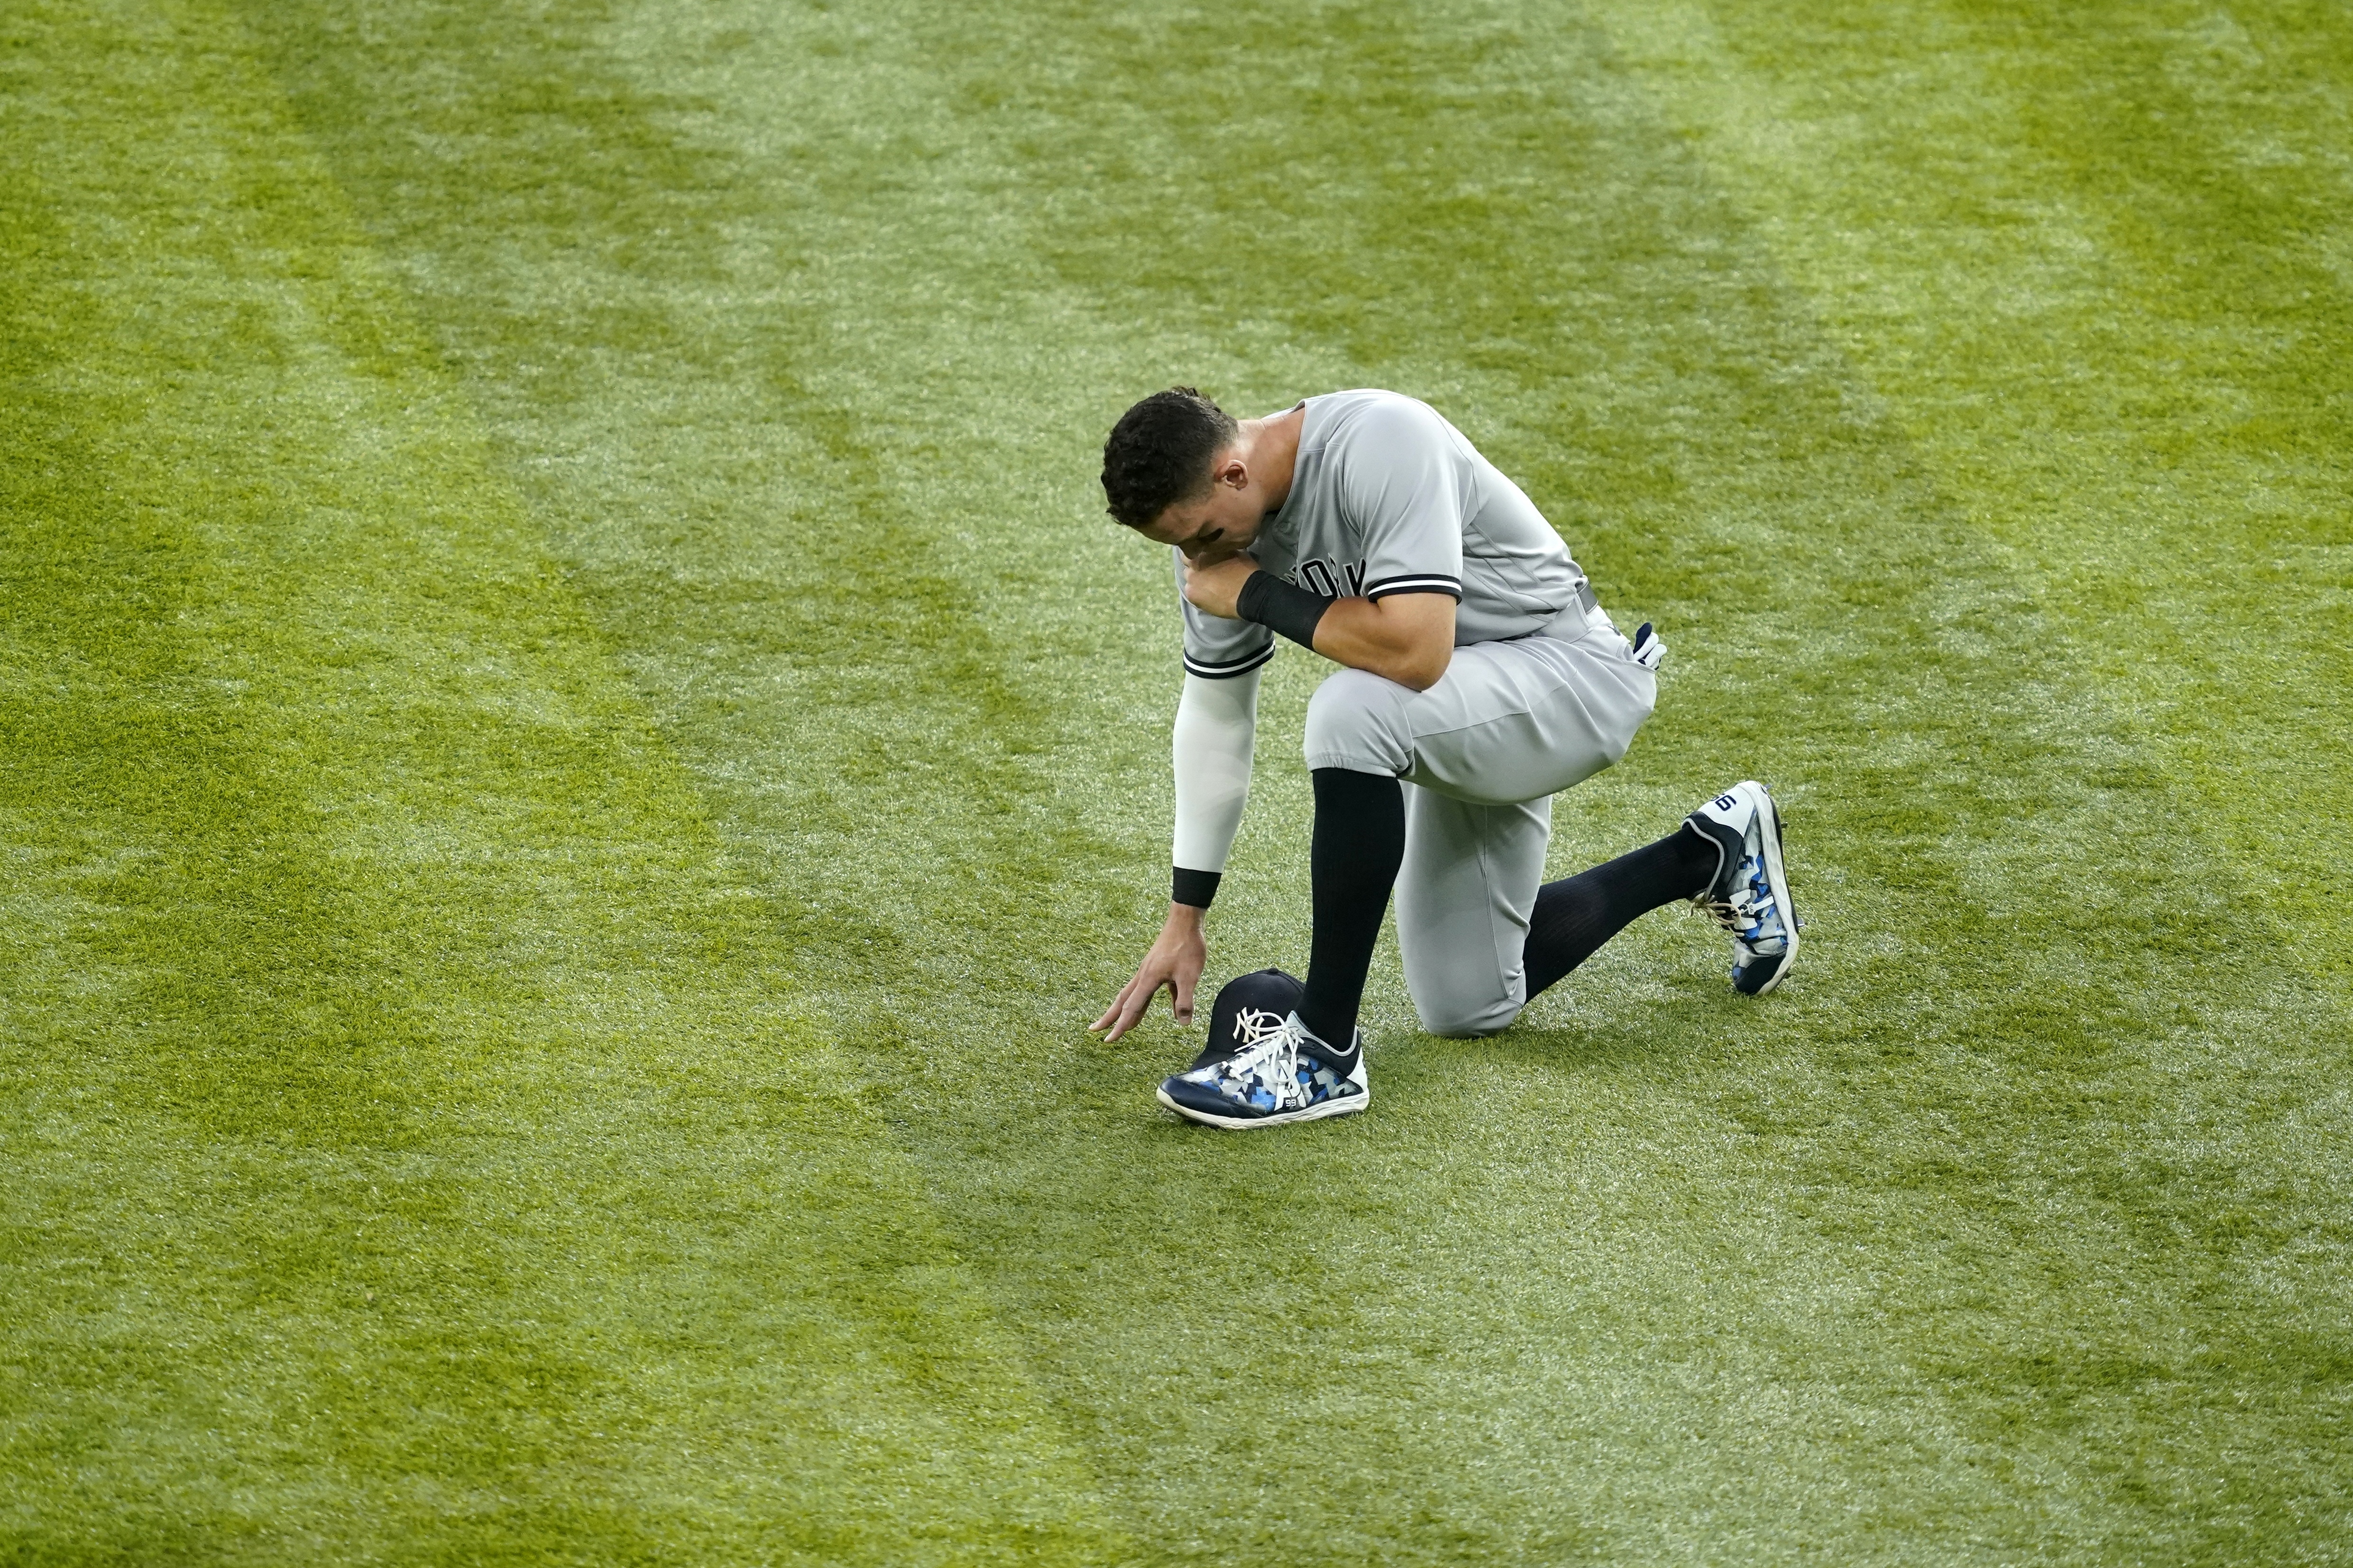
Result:
M9 1552L1118 1554L240 28L9 54Z

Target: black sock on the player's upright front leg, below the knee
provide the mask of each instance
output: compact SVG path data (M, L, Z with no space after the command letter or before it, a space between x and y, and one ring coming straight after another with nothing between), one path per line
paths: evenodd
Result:
M1315 942L1299 1022L1337 1050L1355 1038L1365 970L1381 937L1388 890L1405 862L1405 791L1395 779L1346 768L1315 768ZM1711 850L1713 855L1713 850Z

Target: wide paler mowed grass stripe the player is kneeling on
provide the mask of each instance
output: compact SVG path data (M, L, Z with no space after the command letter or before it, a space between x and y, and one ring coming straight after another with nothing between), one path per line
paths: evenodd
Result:
M2153 928L2052 876L2132 815L2144 737L2045 657L2033 563L1577 14L261 26L1151 1540L2099 1559L2332 1528L2332 1330L2266 1337L2245 1295L2282 1257L2329 1276L2299 1229L2327 1187L2261 1132L2146 1149L2252 1121L2242 1064L2172 1031L2294 1026L2294 977L2184 1019L2148 954L2261 911L2217 881ZM1071 1029L1141 939L1104 916L1153 904L1165 567L1078 520L1101 421L1179 374L1242 407L1424 391L1529 476L1680 636L1562 859L1762 756L1805 810L1809 984L1744 1010L1713 942L1652 925L1501 1043L1414 1041L1384 996L1362 1128L1165 1128L1174 1041ZM906 636L878 556L953 638ZM1231 968L1304 954L1311 673L1268 704ZM2172 888L2217 866L2158 843ZM2275 1464L2214 1493L2245 1403ZM1235 1488L1308 1448L1329 1490Z

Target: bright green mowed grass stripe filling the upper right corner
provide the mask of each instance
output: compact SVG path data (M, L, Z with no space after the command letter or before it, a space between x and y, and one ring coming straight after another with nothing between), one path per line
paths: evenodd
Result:
M2268 918L2186 946L2184 984L2285 942L2344 1019L2344 911L2289 852L2329 812L2311 746L2353 725L2344 16L1598 9L2045 596L2049 657L2155 768L2118 789L2231 850Z

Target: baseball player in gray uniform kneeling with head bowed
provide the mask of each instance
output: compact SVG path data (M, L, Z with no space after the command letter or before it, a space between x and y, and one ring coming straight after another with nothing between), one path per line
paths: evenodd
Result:
M1626 756L1666 652L1628 643L1544 513L1414 398L1344 391L1235 421L1188 386L1104 443L1111 516L1174 546L1184 610L1176 876L1167 923L1094 1022L1115 1041L1160 986L1193 1017L1202 918L1249 796L1275 636L1341 669L1308 702L1315 930L1306 984L1224 986L1209 1043L1160 1102L1214 1128L1362 1111L1355 1026L1388 895L1424 1029L1480 1036L1635 916L1692 899L1732 932L1732 986L1798 956L1781 819L1762 784L1659 843L1541 883L1553 796Z

